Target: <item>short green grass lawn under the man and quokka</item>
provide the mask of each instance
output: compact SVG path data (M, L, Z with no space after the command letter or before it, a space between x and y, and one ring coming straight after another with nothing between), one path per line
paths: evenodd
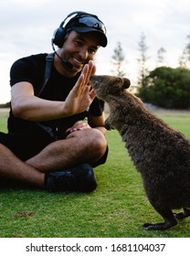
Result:
M190 138L190 113L162 114L164 121ZM2 122L5 118L0 117ZM26 238L187 238L190 219L165 231L142 224L163 221L150 206L140 174L116 131L107 133L109 157L95 168L97 189L90 194L0 190L0 237Z

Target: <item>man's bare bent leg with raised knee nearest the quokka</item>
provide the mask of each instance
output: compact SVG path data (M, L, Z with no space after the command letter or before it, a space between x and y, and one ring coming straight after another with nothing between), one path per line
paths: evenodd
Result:
M97 129L70 133L67 139L48 144L39 154L28 159L41 172L66 169L82 163L94 163L106 152L107 142Z

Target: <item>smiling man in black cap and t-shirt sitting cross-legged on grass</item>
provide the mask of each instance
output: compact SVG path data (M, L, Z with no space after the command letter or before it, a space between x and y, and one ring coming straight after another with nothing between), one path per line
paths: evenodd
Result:
M105 163L108 147L103 102L90 89L90 76L95 53L106 45L98 16L75 12L55 31L54 54L13 64L8 133L0 133L0 180L48 191L97 187L92 166Z

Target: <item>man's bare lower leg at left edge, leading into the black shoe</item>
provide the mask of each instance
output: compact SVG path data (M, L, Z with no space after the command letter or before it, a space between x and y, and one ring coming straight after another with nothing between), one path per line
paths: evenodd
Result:
M26 165L5 145L0 144L0 179L10 178L18 182L44 188L44 174L33 166Z

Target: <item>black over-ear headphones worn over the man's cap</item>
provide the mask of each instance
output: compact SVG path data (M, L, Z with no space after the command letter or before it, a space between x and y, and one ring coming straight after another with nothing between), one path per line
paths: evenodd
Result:
M66 23L66 20L70 17L70 16L73 16L69 22L65 25ZM80 16L93 16L93 15L90 15L88 13L85 13L85 12L73 12L73 13L70 13L69 16L67 16L62 22L61 24L59 25L59 27L55 30L54 32L54 35L52 37L52 45L56 45L58 46L58 48L61 48L63 43L64 43L64 40L65 40L65 37L67 35L67 29L69 27L69 23L72 22L73 20L79 18Z

